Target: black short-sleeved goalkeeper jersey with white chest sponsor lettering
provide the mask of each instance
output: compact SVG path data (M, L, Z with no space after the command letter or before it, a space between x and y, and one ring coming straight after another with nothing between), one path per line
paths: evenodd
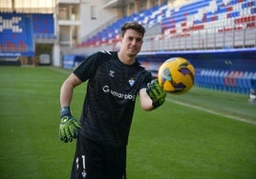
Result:
M131 66L122 64L113 51L92 54L74 73L82 81L88 80L81 115L85 136L103 145L126 146L137 94L146 88L152 74L138 61Z

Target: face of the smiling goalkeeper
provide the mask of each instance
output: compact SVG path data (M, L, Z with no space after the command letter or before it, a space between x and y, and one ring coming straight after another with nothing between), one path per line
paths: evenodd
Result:
M143 44L143 36L136 30L126 30L124 36L120 38L121 52L133 57L139 53Z

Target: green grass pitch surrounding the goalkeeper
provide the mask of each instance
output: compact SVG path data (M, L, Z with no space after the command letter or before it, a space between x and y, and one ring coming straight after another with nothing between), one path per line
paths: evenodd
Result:
M3 179L69 178L75 143L58 139L59 89L69 70L0 68ZM79 116L85 85L75 89ZM256 121L248 96L193 88L160 109L137 106L128 145L129 179L256 178L256 125L174 103Z

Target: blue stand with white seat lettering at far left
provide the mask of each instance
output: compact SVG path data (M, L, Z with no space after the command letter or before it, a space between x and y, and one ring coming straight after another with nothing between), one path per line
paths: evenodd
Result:
M0 12L0 56L33 56L40 38L55 38L53 14Z

